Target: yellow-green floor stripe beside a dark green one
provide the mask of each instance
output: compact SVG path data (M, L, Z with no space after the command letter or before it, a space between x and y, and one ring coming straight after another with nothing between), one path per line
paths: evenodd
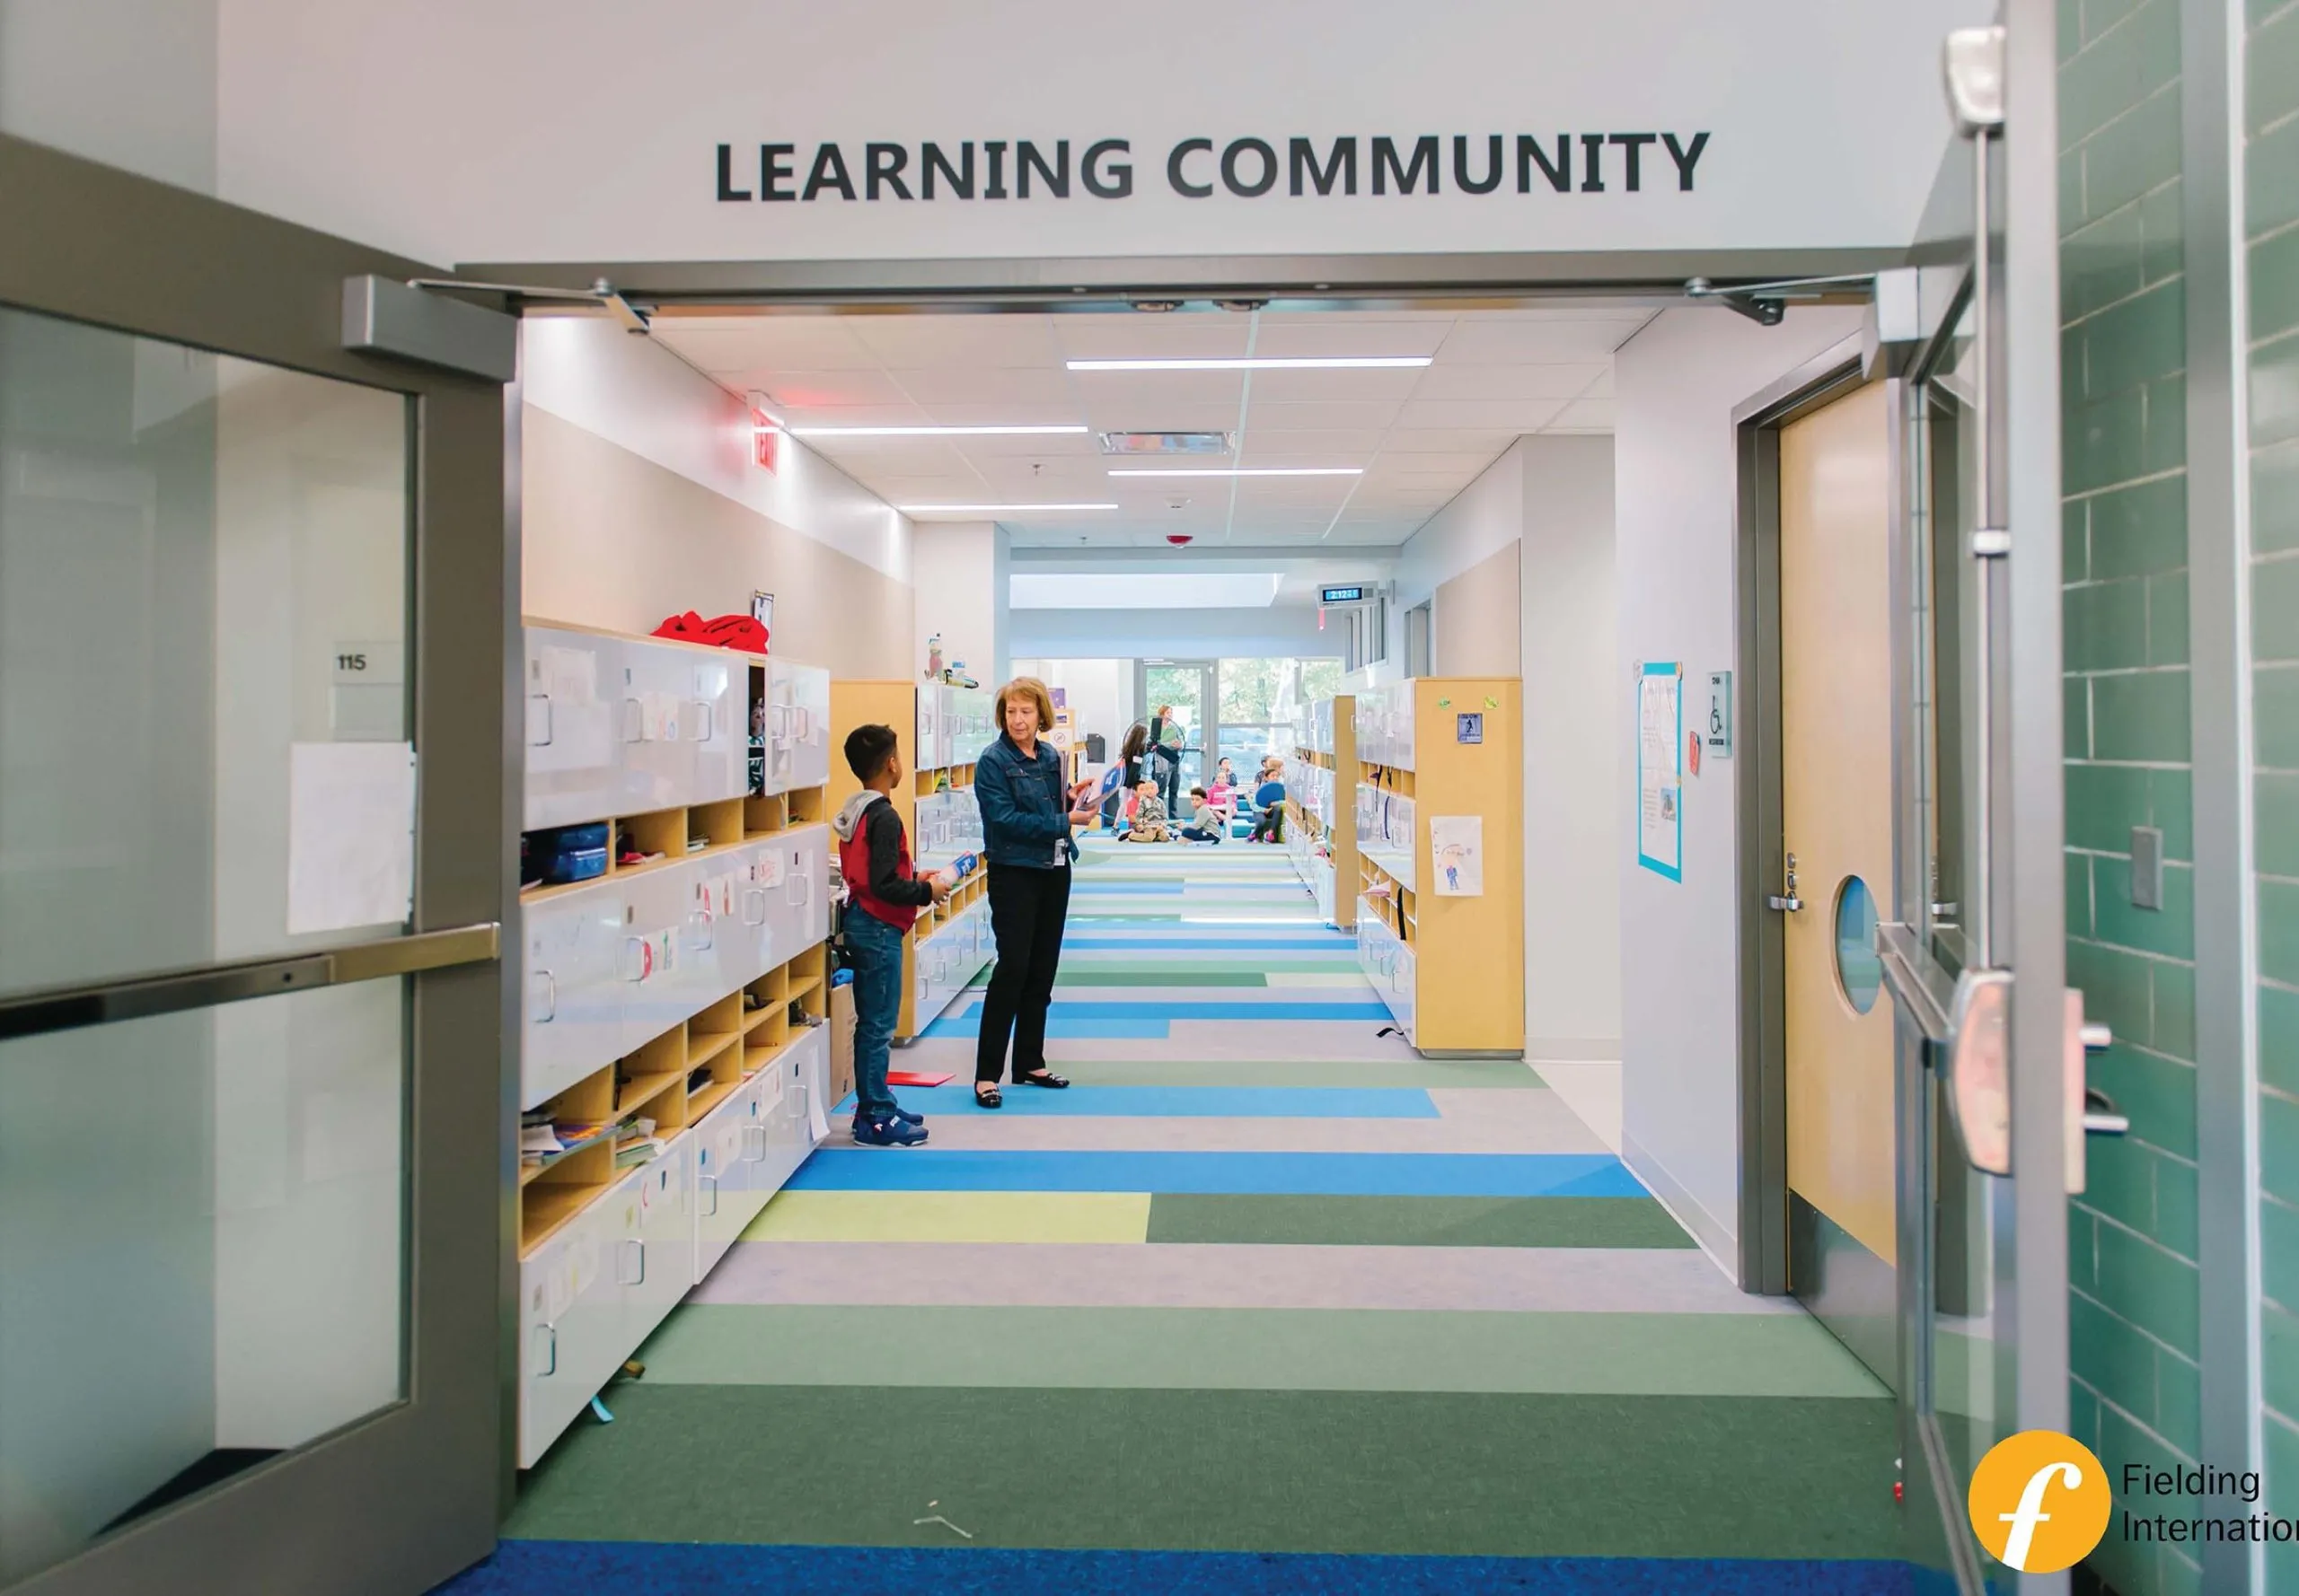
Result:
M890 1153L887 1157L904 1157ZM747 1242L1145 1242L1147 1192L779 1192Z

